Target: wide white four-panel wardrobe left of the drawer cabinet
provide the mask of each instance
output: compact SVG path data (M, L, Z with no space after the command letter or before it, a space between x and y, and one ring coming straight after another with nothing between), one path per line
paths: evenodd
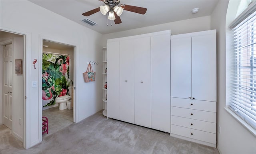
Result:
M108 117L170 132L170 30L110 39Z

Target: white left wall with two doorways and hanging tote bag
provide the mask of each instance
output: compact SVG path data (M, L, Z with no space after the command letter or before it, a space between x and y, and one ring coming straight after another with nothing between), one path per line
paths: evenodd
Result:
M77 46L76 50L76 62L77 79L76 80L76 101L77 106L77 121L102 110L102 66L93 66L96 72L96 82L85 83L82 77L82 73L86 71L87 61L102 61L102 46L98 42L102 42L102 34L92 31L80 24L72 22L58 14L50 12L36 4L29 1L0 1L0 18L1 29L14 30L18 32L24 32L29 34L31 38L31 46L26 46L30 59L27 59L30 64L26 66L28 69L27 78L30 79L27 83L29 94L26 94L29 98L26 100L28 110L26 111L26 148L38 144L42 140L42 128L38 113L42 110L42 107L38 102L42 100L40 93L42 93L41 87L32 88L32 81L37 83L42 82L42 70L39 70L39 66L42 62L36 63L34 69L32 62L34 59L40 60L42 55L39 55L41 50L40 38L46 40L55 40L57 42L63 42L66 44ZM41 58L42 59L42 58ZM98 72L98 73L97 73ZM30 101L28 101L30 100ZM42 111L41 111L42 112ZM41 130L41 131L40 131Z

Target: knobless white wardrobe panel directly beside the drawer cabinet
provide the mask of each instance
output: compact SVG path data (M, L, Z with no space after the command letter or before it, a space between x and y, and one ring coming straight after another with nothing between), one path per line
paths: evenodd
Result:
M151 128L170 132L170 34L151 37Z

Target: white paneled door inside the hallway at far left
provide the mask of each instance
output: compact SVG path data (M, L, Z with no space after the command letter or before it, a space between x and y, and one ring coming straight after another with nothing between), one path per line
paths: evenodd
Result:
M3 46L3 124L12 129L12 44Z

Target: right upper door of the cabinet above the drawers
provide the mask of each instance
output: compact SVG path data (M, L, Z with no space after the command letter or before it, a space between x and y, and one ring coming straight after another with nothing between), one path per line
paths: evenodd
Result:
M216 35L192 37L192 96L216 102Z

